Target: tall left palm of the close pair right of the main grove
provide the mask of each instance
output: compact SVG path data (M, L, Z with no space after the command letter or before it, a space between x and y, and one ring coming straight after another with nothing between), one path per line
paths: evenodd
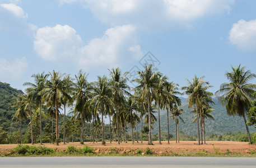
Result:
M181 90L184 90L182 94L188 95L188 102L189 102L188 107L192 108L192 106L194 105L194 108L196 108L196 111L197 111L198 144L200 144L198 109L200 109L201 102L202 102L201 100L202 100L202 97L205 97L204 95L212 96L212 93L208 92L207 89L210 87L213 87L209 85L209 82L203 81L203 78L204 77L198 78L195 75L195 77L191 80L191 82L188 79L186 79L189 84L188 86L181 87Z

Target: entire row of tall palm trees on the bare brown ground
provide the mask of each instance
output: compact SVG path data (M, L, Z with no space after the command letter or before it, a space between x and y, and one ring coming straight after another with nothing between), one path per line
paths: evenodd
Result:
M240 79L239 81L232 81L231 79L233 78L229 78L227 74L235 73L236 69L240 69L241 73L237 75L242 75L243 79ZM217 94L226 91L224 95L221 96L221 100L223 104L226 104L228 114L235 115L237 114L235 110L239 109L241 116L245 116L242 109L246 110L246 108L250 107L250 98L252 97L250 94L252 94L252 92L254 92L256 88L254 84L247 84L247 82L255 77L255 74L245 71L244 67L240 68L240 66L238 68L232 67L232 71L227 74L226 75L227 78L230 80L230 83L223 83L220 90L217 91ZM26 94L19 97L19 100L16 100L15 106L18 110L15 114L15 118L17 118L21 122L22 119L26 119L26 117L30 115L31 142L33 143L34 141L32 139L33 128L31 111L33 109L39 109L40 143L42 144L41 109L42 106L48 108L48 111L52 111L52 113L50 114L52 118L52 123L54 117L56 120L57 145L59 143L58 114L59 108L61 107L63 107L64 109L63 143L65 143L66 138L65 116L67 107L72 109L71 113L73 114L73 118L81 120L81 143L83 143L83 125L85 124L85 122L91 123L93 142L95 142L95 125L99 124L98 121L100 120L101 116L101 129L103 139L102 143L105 144L104 116L108 115L110 119L110 143L112 139L111 130L115 129L115 132L117 132L117 142L118 144L120 144L122 129L124 136L124 130L126 130L127 125L129 125L129 127L132 129L132 141L134 143L133 129L135 127L137 129L137 124L141 122L142 130L144 118L145 124L148 127L148 144L152 144L152 123L156 122L157 120L159 124L159 143L161 144L160 110L166 110L167 141L169 143L169 117L172 117L176 123L177 142L177 131L179 130L180 118L179 115L184 112L182 109L179 108L181 104L181 101L178 97L178 95L180 95L180 92L178 91L179 85L174 82L168 82L168 78L160 72L155 72L155 69L153 69L152 65L145 65L145 68L142 71L138 71L138 75L138 78L131 81L136 82L138 85L134 88L131 88L127 84L129 77L128 72L122 74L119 68L113 68L111 70L109 69L109 78L106 76L98 76L97 81L95 82L87 81L88 74L83 73L82 71L80 71L74 79L72 79L67 74L55 71L53 71L52 73L49 72L49 74L33 74L32 77L34 78L34 83L25 82L24 86L27 86L25 90ZM188 95L188 106L189 108L193 108L192 112L196 113L196 118L194 119L194 122L197 121L198 144L203 143L203 137L204 143L206 143L204 120L207 118L213 119L211 112L214 110L210 106L210 104L214 104L214 102L212 101L213 94L212 92L209 92L207 90L212 86L209 85L209 82L204 81L203 77L198 78L197 76L195 76L191 81L187 81L188 86L181 87L181 90L183 90L183 93L181 93L181 95ZM232 83L235 84L233 85ZM234 96L234 92L232 90L238 90L238 88L235 86L241 88L241 92L243 92L243 97L240 95ZM233 95L228 92L232 92ZM237 91L236 94L240 94L240 92ZM230 96L233 96L233 104L231 104L231 98L229 98ZM246 96L249 97L249 99L245 99ZM241 100L236 100L239 98L241 98ZM236 105L234 105L235 103ZM243 105L242 108L240 107L240 105ZM155 115L153 115L153 111L155 108L157 108L158 110L158 119L156 119ZM53 111L55 113L53 113ZM169 111L171 112L171 116L169 115ZM182 118L180 118L180 120L184 122ZM113 128L111 128L111 123Z

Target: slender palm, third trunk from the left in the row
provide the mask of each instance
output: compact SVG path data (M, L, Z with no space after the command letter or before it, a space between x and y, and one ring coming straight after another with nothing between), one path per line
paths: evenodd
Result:
M42 142L42 122L41 122L41 105L42 105L42 95L40 92L45 88L45 82L48 78L49 74L38 73L32 74L32 78L34 78L35 83L25 82L23 86L29 86L25 89L28 96L31 97L32 100L36 103L36 105L40 108L40 144Z

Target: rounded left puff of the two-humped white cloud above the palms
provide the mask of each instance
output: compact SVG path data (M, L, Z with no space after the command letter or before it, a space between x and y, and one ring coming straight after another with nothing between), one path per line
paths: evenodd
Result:
M45 60L72 58L77 55L82 40L76 30L68 25L43 27L35 35L34 49Z

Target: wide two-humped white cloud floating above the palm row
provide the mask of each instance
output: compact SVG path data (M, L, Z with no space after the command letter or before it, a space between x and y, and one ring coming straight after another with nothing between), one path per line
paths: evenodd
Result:
M112 67L142 54L132 25L110 28L86 45L68 25L43 27L36 32L34 49L45 60L78 64L78 68Z

